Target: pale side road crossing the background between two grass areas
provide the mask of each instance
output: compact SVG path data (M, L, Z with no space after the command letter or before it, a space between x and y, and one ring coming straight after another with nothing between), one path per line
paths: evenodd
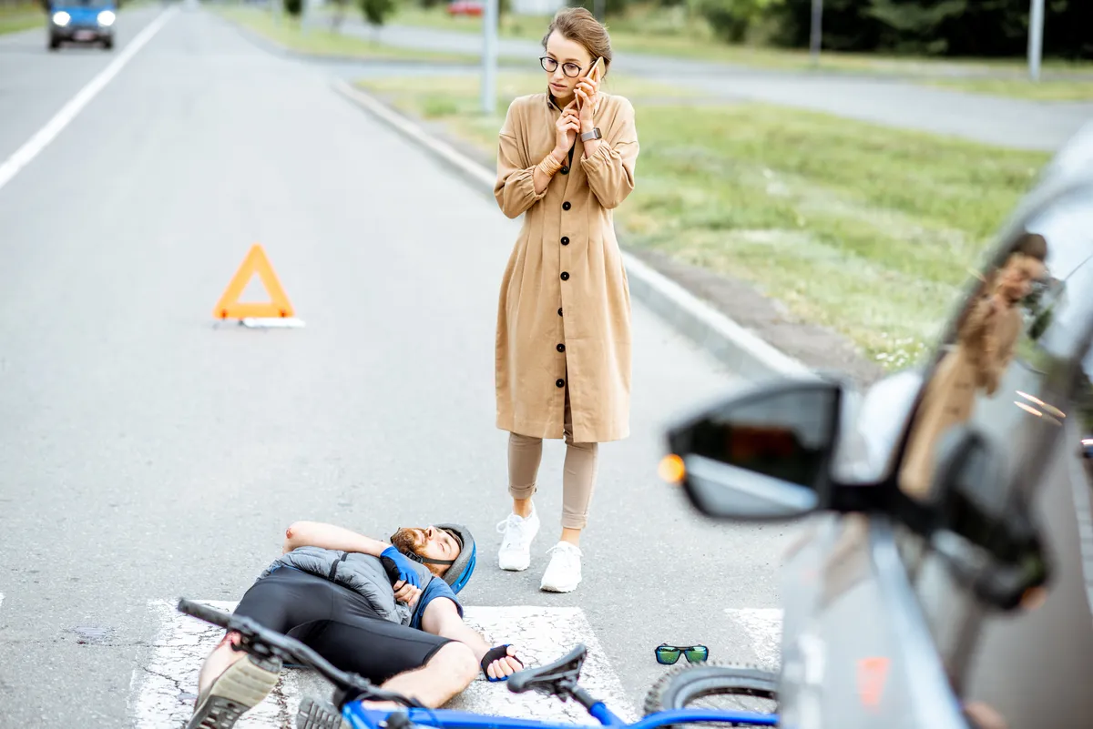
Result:
M462 53L482 50L479 34L388 25L377 36L359 19L346 21L344 32L369 39L378 37L403 48ZM497 51L538 70L536 59L542 55L542 46L502 38ZM1014 148L1053 152L1093 118L1093 103L973 95L868 75L751 69L636 53L618 53L613 68L618 73L691 86L726 99L778 104Z

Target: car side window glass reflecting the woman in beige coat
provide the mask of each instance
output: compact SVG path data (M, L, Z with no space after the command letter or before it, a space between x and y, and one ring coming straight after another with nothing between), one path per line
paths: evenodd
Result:
M927 378L901 464L905 493L936 495L939 453L961 426L999 434L1029 415L1059 419L1035 393L1084 324L1080 295L1093 285L1091 256L1093 193L1085 189L1030 218L984 272Z

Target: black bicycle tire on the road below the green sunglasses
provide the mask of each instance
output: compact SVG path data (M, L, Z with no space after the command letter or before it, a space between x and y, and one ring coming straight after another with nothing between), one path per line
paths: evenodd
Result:
M645 695L645 716L657 712L685 709L695 698L739 695L778 701L778 674L755 666L707 661L698 666L677 666ZM751 726L734 721L703 722L721 726ZM692 729L702 725L674 725L670 729ZM662 728L668 729L668 728Z

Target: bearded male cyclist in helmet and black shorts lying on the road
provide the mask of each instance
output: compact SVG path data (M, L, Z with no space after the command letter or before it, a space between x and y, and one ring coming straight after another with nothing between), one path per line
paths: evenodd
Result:
M456 593L474 571L474 538L457 524L401 528L387 543L297 522L285 533L283 554L235 614L301 641L343 671L438 707L480 670L496 681L524 667L510 645L491 648L463 623ZM188 729L228 729L277 685L280 661L234 650L238 640L226 633L205 658ZM307 701L301 714L310 726L340 724L331 705Z

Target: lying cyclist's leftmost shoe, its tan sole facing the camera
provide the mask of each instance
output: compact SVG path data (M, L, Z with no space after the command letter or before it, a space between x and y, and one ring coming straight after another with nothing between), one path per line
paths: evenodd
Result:
M269 695L280 673L280 658L240 658L198 696L186 729L231 729L244 712Z

